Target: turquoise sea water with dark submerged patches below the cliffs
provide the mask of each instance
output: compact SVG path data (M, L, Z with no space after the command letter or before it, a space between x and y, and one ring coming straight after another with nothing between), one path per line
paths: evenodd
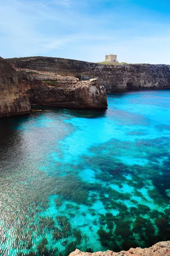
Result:
M0 120L0 255L170 240L170 90Z

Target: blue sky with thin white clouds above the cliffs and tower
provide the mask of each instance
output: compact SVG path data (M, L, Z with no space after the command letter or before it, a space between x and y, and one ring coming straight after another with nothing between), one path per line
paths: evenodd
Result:
M170 0L0 0L0 56L170 64Z

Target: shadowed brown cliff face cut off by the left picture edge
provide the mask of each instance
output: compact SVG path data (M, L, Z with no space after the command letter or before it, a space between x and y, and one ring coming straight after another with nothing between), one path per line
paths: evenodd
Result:
M11 63L0 58L0 117L28 113L31 105L19 91L17 72Z

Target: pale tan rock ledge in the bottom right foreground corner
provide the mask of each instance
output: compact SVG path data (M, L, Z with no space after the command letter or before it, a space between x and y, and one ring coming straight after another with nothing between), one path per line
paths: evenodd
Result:
M128 251L114 253L110 250L106 252L82 253L80 250L75 250L69 256L170 256L170 241L159 242L150 248L130 248Z

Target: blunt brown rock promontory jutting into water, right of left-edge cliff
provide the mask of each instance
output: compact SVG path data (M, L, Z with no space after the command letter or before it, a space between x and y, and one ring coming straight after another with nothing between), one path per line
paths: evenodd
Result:
M74 76L18 69L18 81L22 93L31 104L77 108L106 108L104 86L97 79L79 81Z

